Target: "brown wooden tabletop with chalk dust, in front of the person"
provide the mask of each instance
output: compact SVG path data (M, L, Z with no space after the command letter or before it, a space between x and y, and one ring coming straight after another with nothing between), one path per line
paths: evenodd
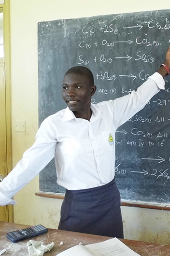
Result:
M6 233L8 232L27 227L29 226L0 222L0 251L4 248L7 249L7 251L2 256L29 256L27 249L27 242L29 239L23 240L22 242L13 243L6 237ZM74 245L77 245L80 242L86 245L90 243L105 241L109 239L109 237L49 228L46 234L33 237L31 239L42 241L45 244L54 242L55 247L50 252L45 253L44 256L56 256L60 252ZM63 245L60 245L61 241L64 242ZM170 256L170 245L138 242L126 239L121 239L121 241L141 256Z

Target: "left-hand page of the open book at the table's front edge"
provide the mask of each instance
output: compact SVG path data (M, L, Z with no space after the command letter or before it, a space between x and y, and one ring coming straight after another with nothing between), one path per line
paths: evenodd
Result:
M86 250L84 245L76 245L58 254L58 256L94 256L94 255L91 254L88 250Z

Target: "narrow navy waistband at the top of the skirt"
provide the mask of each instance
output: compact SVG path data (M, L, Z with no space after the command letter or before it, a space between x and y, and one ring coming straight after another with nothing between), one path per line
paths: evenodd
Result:
M66 189L66 193L70 193L70 194L104 193L105 191L108 191L110 188L113 189L114 184L115 184L115 179L113 179L111 182L109 182L105 185L101 185L101 186L97 186L97 187L79 189L79 190Z

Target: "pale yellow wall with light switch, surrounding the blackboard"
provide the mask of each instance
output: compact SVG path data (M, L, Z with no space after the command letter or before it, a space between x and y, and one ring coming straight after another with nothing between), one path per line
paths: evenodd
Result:
M34 142L38 129L37 23L45 20L170 9L168 1L11 0L13 167ZM169 5L169 6L168 6ZM16 132L26 121L26 132ZM61 199L35 196L37 176L14 199L14 222L57 228ZM170 212L122 207L125 238L170 243Z

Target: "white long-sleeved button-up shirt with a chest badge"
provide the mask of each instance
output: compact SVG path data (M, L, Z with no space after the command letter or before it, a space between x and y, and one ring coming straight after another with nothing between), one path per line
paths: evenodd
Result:
M15 204L14 194L55 157L57 183L69 190L109 183L114 178L115 131L139 112L164 79L154 73L138 90L116 100L91 104L90 121L76 118L67 107L47 117L36 141L0 183L0 205Z

